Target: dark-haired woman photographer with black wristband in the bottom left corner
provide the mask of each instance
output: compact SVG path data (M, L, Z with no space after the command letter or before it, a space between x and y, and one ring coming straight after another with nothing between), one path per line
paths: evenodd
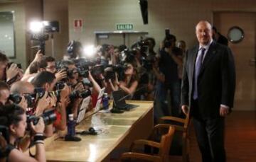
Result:
M17 147L17 141L23 137L26 131L26 113L18 105L4 105L0 108L0 123L9 130L10 152L6 157L7 161L46 161L46 151L43 143L44 123L42 117L36 125L30 123L31 129L36 133L34 138L36 144L35 158L23 154Z

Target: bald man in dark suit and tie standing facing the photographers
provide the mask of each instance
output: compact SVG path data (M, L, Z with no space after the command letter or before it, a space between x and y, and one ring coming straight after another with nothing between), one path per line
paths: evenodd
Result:
M196 25L199 45L183 65L181 109L190 108L203 161L225 161L224 118L233 108L235 64L230 49L213 41L208 21Z

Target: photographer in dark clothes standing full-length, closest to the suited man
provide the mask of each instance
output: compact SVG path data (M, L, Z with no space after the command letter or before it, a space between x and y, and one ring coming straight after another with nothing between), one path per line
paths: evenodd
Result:
M175 47L176 37L168 34L164 39L164 47L160 50L159 66L165 75L165 95L170 91L171 96L171 114L178 117L180 112L180 94L181 84L178 80L178 66L182 66L182 51ZM166 99L167 100L167 99Z

